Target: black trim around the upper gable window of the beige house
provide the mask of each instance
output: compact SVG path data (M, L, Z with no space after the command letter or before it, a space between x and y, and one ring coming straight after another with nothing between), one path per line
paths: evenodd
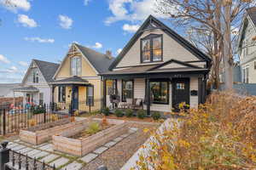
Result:
M160 60L157 60L157 61L154 61L153 60L153 39L154 38L157 38L157 37L160 37L160 39L161 39L161 59ZM149 42L150 42L150 49L149 49L149 51L150 51L150 59L149 59L149 61L144 61L143 62L143 40L148 40L149 39ZM145 64L145 63L156 63L156 62L162 62L163 61L163 44L164 44L164 41L163 41L163 35L162 34L149 34L148 36L146 36L146 37L143 37L143 38L141 38L141 40L140 40L141 42L141 44L140 44L140 58L141 58L141 64Z

